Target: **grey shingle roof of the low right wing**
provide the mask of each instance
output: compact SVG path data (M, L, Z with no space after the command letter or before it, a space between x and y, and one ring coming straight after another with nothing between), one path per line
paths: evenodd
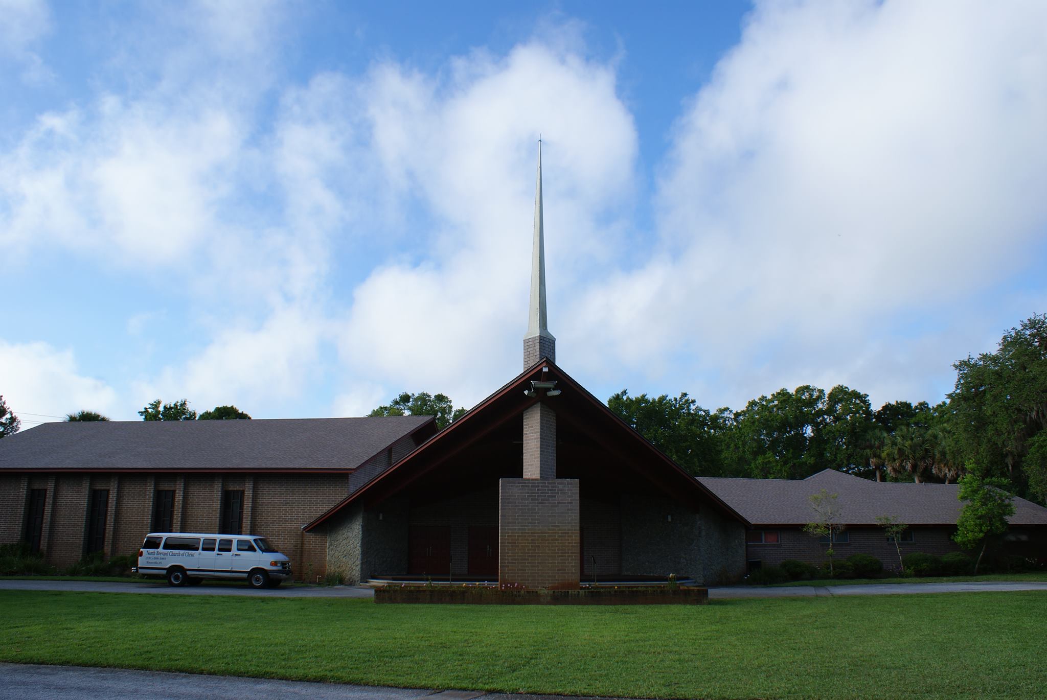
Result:
M808 498L825 489L838 494L841 519L848 525L874 525L892 515L910 525L955 524L963 502L955 483L876 482L826 469L805 479L736 479L699 476L698 480L754 525L810 522ZM1047 509L1015 498L1012 525L1047 525Z

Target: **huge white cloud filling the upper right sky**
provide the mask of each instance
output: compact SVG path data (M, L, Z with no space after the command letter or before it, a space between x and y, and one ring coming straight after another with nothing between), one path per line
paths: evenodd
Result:
M587 291L572 344L736 398L761 362L862 388L903 310L964 322L1047 227L1045 30L1037 2L759 4L676 126L659 249Z

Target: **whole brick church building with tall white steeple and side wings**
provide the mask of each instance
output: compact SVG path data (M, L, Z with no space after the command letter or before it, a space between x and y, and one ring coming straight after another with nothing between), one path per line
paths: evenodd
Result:
M45 423L0 441L0 543L63 567L136 552L149 532L249 533L299 578L710 585L823 561L827 543L801 528L829 486L853 516L844 556L888 561L874 516L892 514L911 525L907 551L956 548L955 484L696 479L611 413L556 364L540 144L536 189L524 371L444 430L430 416ZM1043 556L1047 510L1016 505L1015 550Z

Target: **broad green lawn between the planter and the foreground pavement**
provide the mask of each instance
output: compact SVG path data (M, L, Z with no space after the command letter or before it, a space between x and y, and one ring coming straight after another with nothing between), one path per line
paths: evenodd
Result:
M1043 697L1047 592L708 606L0 591L0 660L639 697Z

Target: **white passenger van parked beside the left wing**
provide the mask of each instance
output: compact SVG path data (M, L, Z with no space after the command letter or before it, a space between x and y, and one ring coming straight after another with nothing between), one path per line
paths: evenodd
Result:
M291 562L258 535L150 533L131 570L166 577L172 586L246 579L251 588L274 588L291 578Z

